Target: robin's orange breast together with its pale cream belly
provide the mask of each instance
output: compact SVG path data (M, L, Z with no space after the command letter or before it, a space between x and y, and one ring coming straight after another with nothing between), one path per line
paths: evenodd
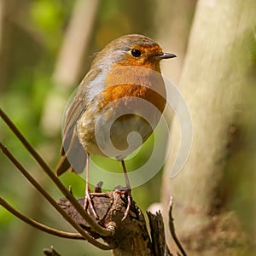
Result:
M160 73L114 67L108 72L104 90L89 102L78 120L80 143L90 154L124 159L154 131L166 105L165 96ZM129 141L131 134L135 137Z

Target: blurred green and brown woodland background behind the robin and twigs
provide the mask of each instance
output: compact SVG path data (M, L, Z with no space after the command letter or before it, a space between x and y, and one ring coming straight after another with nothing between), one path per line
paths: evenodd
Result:
M185 23L183 27L188 28L195 1L186 4L186 19L182 22ZM171 6L168 8L171 12ZM161 38L156 29L162 21L158 18L164 15L161 10L156 0L0 2L1 108L53 169L60 159L61 116L65 102L88 71L94 54L113 38L126 33ZM166 14L168 17L168 12ZM173 28L176 29L178 27ZM186 38L188 31L185 29L177 39ZM178 44L183 48L177 51L182 53L185 44L185 40ZM61 197L2 120L0 138L56 200ZM163 138L163 147L165 140ZM151 138L143 153L128 162L129 170L147 159L153 142L154 138ZM120 170L119 163L99 161L111 170ZM44 224L72 230L3 154L0 154L0 162L0 194L4 199ZM133 189L133 198L143 211L154 201L159 201L160 177L161 172L148 183ZM61 180L67 186L72 184L74 195L84 196L84 182L79 176L67 173ZM64 241L33 230L0 207L0 255L42 255L43 248L51 245L61 255L110 255L84 241Z

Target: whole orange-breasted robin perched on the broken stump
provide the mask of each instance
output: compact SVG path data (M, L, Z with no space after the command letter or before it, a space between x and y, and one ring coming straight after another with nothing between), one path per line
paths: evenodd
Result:
M125 188L119 192L127 195L125 218L132 199L124 159L148 139L160 119L166 106L160 61L173 57L143 35L116 38L96 55L67 108L56 175L86 167L84 209L89 205L96 218L88 181L90 154L121 162ZM140 140L129 141L132 132Z

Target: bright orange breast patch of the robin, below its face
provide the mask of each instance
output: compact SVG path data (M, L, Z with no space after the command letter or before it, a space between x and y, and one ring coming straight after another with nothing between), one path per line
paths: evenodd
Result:
M136 97L150 102L162 113L166 106L166 89L160 72L150 68L116 66L108 73L99 108L120 98Z

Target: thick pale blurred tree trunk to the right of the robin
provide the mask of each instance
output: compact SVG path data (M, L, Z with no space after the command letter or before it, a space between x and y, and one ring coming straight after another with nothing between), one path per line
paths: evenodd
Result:
M179 83L193 145L171 178L183 137L175 119L162 190L164 206L174 197L177 233L189 255L244 252L247 236L255 237L255 8L253 0L201 0L195 11Z

